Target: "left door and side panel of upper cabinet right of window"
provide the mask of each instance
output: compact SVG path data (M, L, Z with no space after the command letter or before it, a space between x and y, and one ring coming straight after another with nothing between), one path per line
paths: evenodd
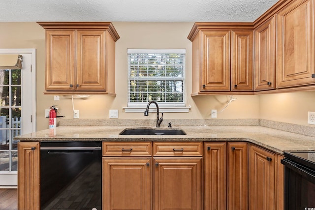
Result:
M230 91L230 30L200 30L192 40L193 92Z

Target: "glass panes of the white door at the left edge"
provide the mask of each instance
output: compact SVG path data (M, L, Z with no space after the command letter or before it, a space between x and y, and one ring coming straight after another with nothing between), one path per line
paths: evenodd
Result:
M17 142L21 134L21 69L0 69L0 171L17 171Z

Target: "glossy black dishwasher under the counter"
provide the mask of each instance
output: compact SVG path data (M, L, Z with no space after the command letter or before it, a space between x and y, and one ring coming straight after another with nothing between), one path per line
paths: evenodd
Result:
M101 142L41 142L41 210L101 210L101 151Z

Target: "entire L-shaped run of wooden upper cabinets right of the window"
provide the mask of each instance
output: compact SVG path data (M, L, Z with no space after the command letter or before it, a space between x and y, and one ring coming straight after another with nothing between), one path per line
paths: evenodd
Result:
M279 0L253 23L195 23L192 93L315 90L314 0Z

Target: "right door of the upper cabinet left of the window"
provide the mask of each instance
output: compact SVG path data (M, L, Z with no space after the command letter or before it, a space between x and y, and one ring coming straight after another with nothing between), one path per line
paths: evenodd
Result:
M76 90L106 90L105 30L77 30Z

